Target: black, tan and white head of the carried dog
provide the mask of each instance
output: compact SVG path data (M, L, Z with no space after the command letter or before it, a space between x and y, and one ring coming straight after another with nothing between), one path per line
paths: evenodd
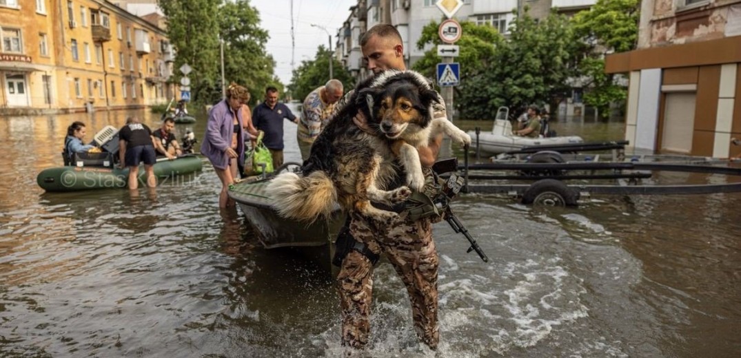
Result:
M382 88L366 89L371 119L368 124L377 127L387 138L399 138L410 127L422 129L431 121L431 106L438 101L437 93L411 81L393 81Z

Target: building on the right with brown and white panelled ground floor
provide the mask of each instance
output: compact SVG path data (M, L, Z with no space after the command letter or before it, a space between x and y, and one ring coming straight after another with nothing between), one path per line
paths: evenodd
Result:
M741 1L644 0L638 49L609 55L628 73L625 139L637 148L741 154Z

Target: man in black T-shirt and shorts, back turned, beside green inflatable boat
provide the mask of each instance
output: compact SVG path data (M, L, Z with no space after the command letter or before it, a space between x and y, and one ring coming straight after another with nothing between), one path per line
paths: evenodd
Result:
M119 159L121 168L129 168L129 189L139 187L139 163L144 162L144 172L147 173L147 186L157 185L154 177L153 165L156 163L152 130L139 121L139 118L130 117L126 125L119 130Z

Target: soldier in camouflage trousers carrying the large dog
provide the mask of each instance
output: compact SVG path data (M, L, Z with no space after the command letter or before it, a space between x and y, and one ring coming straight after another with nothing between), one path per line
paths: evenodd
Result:
M360 39L363 58L373 73L385 70L406 70L402 37L395 27L378 24L371 27ZM353 91L348 92L336 105L336 112L345 106ZM445 104L433 107L433 118L445 118ZM353 118L360 129L371 133L362 115ZM433 138L428 146L417 148L423 172L431 178L431 166L436 160L442 135ZM387 188L391 189L391 188ZM350 240L351 249L341 259L337 277L342 307L342 345L364 348L371 328L371 290L373 265L380 254L385 254L402 278L412 307L412 317L417 336L432 349L439 342L437 270L438 256L432 238L432 219L413 220L408 213L399 215L398 223L379 227L353 217L349 227L342 229L338 241ZM340 247L338 246L338 250Z

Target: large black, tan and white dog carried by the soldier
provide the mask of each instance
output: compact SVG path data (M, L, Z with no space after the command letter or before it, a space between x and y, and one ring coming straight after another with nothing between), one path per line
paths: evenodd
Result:
M393 206L425 184L417 146L445 132L459 143L471 138L446 118L433 118L442 102L428 80L413 71L386 71L359 84L311 146L300 175L285 172L268 184L273 206L283 217L312 222L330 215L335 203L348 212L384 220ZM362 112L374 134L353 123ZM401 163L397 167L395 159ZM408 186L384 190L403 169Z

